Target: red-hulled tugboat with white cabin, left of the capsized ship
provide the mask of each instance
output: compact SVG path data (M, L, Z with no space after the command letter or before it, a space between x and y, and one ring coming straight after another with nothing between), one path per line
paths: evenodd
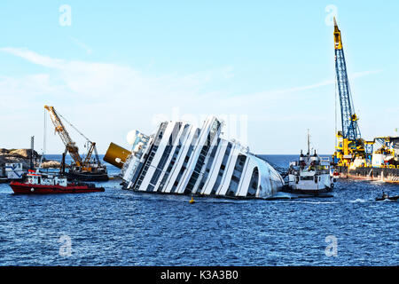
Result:
M44 175L35 170L28 171L27 181L12 181L10 186L16 194L95 193L105 191L104 187L83 183L67 183L66 177Z

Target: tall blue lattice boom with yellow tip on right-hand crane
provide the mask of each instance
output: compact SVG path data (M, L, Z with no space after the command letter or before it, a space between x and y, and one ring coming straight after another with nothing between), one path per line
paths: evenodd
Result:
M340 95L340 115L342 122L342 137L348 140L361 138L360 129L357 124L357 116L353 105L349 88L347 64L340 36L340 28L334 18L334 42L335 42L335 72Z

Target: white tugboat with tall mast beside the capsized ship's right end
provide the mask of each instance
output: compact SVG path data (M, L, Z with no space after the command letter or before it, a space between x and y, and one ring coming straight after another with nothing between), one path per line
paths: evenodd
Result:
M310 154L308 132L308 154L301 152L299 161L290 162L288 185L293 192L325 193L334 186L334 178L330 173L330 159L320 157L315 150Z

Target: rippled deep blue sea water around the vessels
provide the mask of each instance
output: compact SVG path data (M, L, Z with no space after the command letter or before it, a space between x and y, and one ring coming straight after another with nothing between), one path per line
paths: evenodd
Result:
M296 158L265 157L282 167ZM399 185L339 180L329 199L191 205L189 196L119 183L98 183L105 193L29 196L0 185L0 265L399 264L399 202L374 201Z

